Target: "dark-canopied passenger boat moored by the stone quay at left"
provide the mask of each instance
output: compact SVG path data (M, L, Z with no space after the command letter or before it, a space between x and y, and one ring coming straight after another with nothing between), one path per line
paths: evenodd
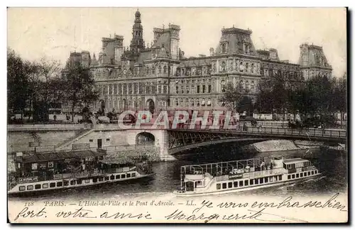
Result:
M124 165L105 160L106 151L65 150L16 153L16 172L9 176L8 195L102 185L153 176L145 157Z

